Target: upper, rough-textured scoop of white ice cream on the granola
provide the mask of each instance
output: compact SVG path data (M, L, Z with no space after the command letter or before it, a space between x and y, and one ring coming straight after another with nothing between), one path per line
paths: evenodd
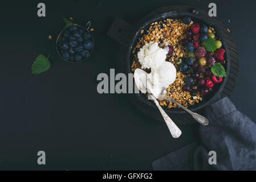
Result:
M142 69L160 67L166 59L168 51L159 47L158 43L148 43L140 48L138 59Z

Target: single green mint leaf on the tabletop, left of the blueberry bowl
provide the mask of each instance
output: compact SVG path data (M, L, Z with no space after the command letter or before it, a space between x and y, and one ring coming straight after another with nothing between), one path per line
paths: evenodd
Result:
M44 55L39 55L34 63L32 64L32 74L39 75L40 73L46 72L51 67L51 63L48 60L48 57Z

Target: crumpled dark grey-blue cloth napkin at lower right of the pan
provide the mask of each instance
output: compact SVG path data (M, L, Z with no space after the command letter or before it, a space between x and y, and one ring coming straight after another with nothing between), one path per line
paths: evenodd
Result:
M208 126L200 126L199 142L152 163L154 170L256 170L256 125L229 98L206 107ZM216 152L210 165L209 151Z

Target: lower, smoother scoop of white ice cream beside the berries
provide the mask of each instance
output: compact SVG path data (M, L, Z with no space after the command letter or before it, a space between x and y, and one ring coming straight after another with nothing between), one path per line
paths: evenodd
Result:
M149 73L149 79L152 84L159 87L168 88L176 80L176 68L168 61L164 61Z

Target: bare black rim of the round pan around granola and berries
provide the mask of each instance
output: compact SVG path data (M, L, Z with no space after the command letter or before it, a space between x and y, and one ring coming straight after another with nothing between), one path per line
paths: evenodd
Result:
M187 12L182 12L182 11L172 11L172 12L169 12L169 13L161 14L161 15L156 16L153 19L149 19L147 22L145 22L143 24L143 26L141 26L139 28L139 30L137 30L137 32L133 36L132 42L128 47L128 53L127 53L127 69L128 69L128 72L132 72L131 71L131 65L133 63L133 53L132 53L132 51L133 51L133 48L136 46L139 38L141 37L141 31L142 30L147 30L153 22L159 22L160 20L167 19L167 18L170 18L170 19L182 18L185 15L192 16L192 20L196 23L200 23L200 24L204 23L204 24L207 24L208 26L212 26L214 28L214 30L216 31L216 35L219 36L221 38L222 42L223 42L224 39L222 38L221 32L219 31L218 27L213 22L210 21L210 19L202 19L198 16L195 16L195 15L187 13ZM192 111L197 111L199 109L202 109L203 107L212 104L214 101L216 101L217 98L220 98L220 94L221 94L221 92L222 92L222 90L225 86L225 83L227 81L227 77L229 76L229 67L230 67L229 52L228 52L228 49L226 48L226 43L225 42L223 42L222 48L225 48L225 50L226 50L226 53L225 53L225 60L226 60L225 69L226 69L227 75L226 75L224 81L221 84L214 85L213 92L211 92L207 97L205 97L203 101L201 101L199 104L196 104L196 105L193 105L193 106L189 107L189 109L192 110ZM152 107L156 107L155 104L153 104L152 101L149 101L147 99L145 94L140 93L140 94L136 94L136 96L141 102L144 102L145 104L151 105ZM178 109L166 109L165 111L167 113L177 113L177 114L185 113L185 111L180 109L180 108L178 108Z

